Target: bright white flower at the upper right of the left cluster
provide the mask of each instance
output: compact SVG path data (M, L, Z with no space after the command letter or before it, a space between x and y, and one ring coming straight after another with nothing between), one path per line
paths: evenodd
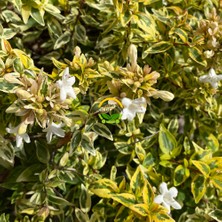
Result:
M76 98L76 94L74 92L74 89L72 88L72 85L75 83L76 79L75 77L70 77L69 75L69 67L67 67L64 70L62 80L58 80L57 84L60 88L60 99L64 101L67 96L72 97L73 99Z

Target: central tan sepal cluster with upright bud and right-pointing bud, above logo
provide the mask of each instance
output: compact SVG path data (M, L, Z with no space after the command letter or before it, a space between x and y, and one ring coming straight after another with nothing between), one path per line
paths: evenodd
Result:
M150 97L161 98L164 101L171 101L174 95L165 90L158 90L153 87L157 83L160 74L151 71L151 67L145 65L143 68L137 64L137 48L131 44L128 48L129 63L126 68L116 67L115 72L119 78L112 78L107 82L110 93L117 97L144 97L148 102Z

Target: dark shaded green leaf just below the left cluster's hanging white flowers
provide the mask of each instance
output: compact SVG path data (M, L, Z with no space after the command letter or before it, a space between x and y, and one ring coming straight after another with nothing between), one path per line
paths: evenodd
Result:
M50 154L48 150L48 146L43 141L35 140L35 146L36 146L36 155L40 162L44 164L48 164L50 159Z

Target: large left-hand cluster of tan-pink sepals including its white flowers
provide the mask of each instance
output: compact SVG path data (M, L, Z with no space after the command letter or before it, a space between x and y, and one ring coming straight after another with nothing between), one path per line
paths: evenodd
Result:
M28 126L32 126L35 122L43 128L43 132L46 132L48 143L51 142L53 135L64 137L61 120L68 126L71 123L71 120L65 116L65 110L69 108L66 99L68 97L76 99L72 87L75 77L70 77L68 67L64 70L62 79L56 83L49 82L42 70L38 74L28 70L26 72L27 74L22 76L15 76L13 73L4 76L7 82L19 84L14 89L17 100L6 110L22 118L18 126L6 129L8 133L16 135L17 147L21 147L23 141L30 143L26 131ZM56 124L53 121L60 123Z

